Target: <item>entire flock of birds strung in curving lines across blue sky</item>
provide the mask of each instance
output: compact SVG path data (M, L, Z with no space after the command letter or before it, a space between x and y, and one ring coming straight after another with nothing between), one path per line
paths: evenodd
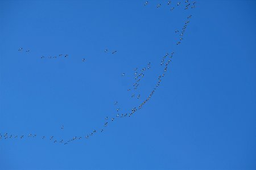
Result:
M193 6L191 8L195 8L195 3L196 2L193 2ZM171 1L169 1L167 3L167 5L170 5L171 4ZM177 3L177 6L180 6L181 2L178 2ZM189 1L185 1L185 9L187 9L191 4L189 3ZM144 3L144 5L148 5L148 1ZM160 7L161 4L159 4L158 6L156 7ZM174 7L172 7L171 10L173 10ZM187 29L187 26L189 24L189 19L191 19L192 15L189 15L183 25L183 28L182 30L176 30L175 33L180 33L180 37L179 37L179 41L176 42L176 45L180 45L181 44L181 41L183 40L183 36L184 36L184 33L185 33L185 30ZM18 49L20 52L22 52L23 48L20 48ZM30 52L30 50L26 50L25 51L26 53ZM105 49L105 53L108 53L108 49ZM112 52L112 54L114 53L117 53L117 50L114 50ZM62 57L64 56L64 58L67 58L68 57L68 54L59 54L59 57ZM64 140L64 139L56 139L54 136L50 136L50 137L46 137L45 135L41 135L40 138L42 138L43 140L46 140L46 139L49 139L51 140L53 143L63 143L64 145L67 145L68 143L71 143L73 141L77 141L77 140L80 140L80 139L88 139L90 137L93 136L93 134L96 134L96 133L103 133L105 128L108 127L109 124L111 124L112 122L114 121L117 121L119 118L126 118L126 117L131 117L135 112L137 112L139 109L142 109L144 104L148 103L148 101L150 101L151 97L155 94L156 90L158 90L160 84L162 83L162 80L164 78L164 75L167 73L167 70L168 70L168 66L170 65L170 62L172 61L172 57L174 56L174 52L171 52L170 54L166 53L162 60L160 61L160 66L164 66L163 67L163 70L162 70L162 73L160 73L160 75L158 76L158 79L157 81L155 82L155 86L154 88L152 89L152 91L150 92L150 94L148 94L145 99L139 104L137 105L136 107L133 107L131 108L131 110L129 112L126 112L126 113L121 113L120 112L120 109L121 108L117 108L116 109L116 112L113 116L109 117L109 116L106 116L105 117L105 123L104 125L101 126L101 128L99 129L94 129L93 131L90 131L88 134L84 135L84 136L80 136L80 137L72 137L68 140ZM46 58L44 56L42 56L41 58ZM56 56L49 56L48 58L57 58ZM85 62L85 58L82 58L82 62ZM141 80L143 79L144 77L144 74L146 73L147 70L149 70L151 68L151 63L148 62L146 67L143 67L142 69L138 69L138 68L135 68L134 69L134 83L133 83L133 90L137 90L137 88L139 87L139 83L141 82ZM126 74L125 73L122 73L122 76L125 76ZM129 88L127 89L127 91L131 91L132 88ZM138 94L137 96L135 96L135 94L132 94L131 97L137 97L137 99L140 99L141 98L141 95ZM114 105L118 105L118 101L115 101L114 102ZM61 125L60 127L61 130L64 130L64 125ZM9 133L4 133L4 134L1 134L0 133L0 139L10 139L10 138L20 138L20 139L23 139L23 138L36 138L38 137L37 134L27 134L27 135L13 135L13 134L9 134Z

